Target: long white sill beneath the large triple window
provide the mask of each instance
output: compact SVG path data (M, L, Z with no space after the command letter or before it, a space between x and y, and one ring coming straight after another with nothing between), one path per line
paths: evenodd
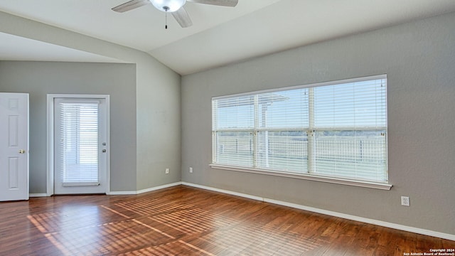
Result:
M237 166L225 166L220 164L210 164L210 167L213 169L222 169L228 171L243 171L252 174L265 174L271 176L280 176L280 177L287 177L287 178L301 178L309 181L321 181L327 183L335 183L335 184L342 184L348 186L359 186L363 188L375 188L375 189L382 189L382 190L390 190L392 188L392 184L389 183L381 183L381 182L373 182L373 181L358 181L348 178L335 178L335 177L326 177L326 176L319 176L316 174L291 174L281 171L270 171L270 170L263 170L263 169L254 169L254 168L247 168L247 167L237 167Z

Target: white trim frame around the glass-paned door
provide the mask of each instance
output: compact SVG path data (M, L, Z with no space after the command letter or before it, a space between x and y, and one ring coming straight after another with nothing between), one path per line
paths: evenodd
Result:
M78 94L48 94L47 95L47 196L52 196L55 193L54 188L54 100L55 98L84 98L84 99L104 99L106 102L106 194L110 193L110 107L109 95L78 95Z

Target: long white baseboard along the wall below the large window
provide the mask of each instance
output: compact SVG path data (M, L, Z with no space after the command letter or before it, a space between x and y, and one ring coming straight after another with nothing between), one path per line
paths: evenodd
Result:
M213 187L198 185L198 184L194 184L194 183L182 182L181 184L185 185L185 186L192 186L192 187L195 187L195 188L202 188L202 189L209 190L209 191L225 193L225 194L229 194L229 195L232 195L232 196L240 196L240 197L243 197L243 198L250 198L250 199L253 199L253 200L263 201L263 202L266 202L266 203L274 203L274 204L277 204L279 206L287 206L287 207L296 208L296 209L300 209L300 210L308 210L308 211L311 211L311 212L314 212L314 213L321 213L321 214L330 215L330 216L333 216L333 217L345 218L345 219L348 219L348 220L355 220L355 221L359 221L359 222L362 222L362 223L379 225L379 226L382 226L382 227L385 227L385 228L393 228L393 229L396 229L396 230L403 230L403 231L417 233L417 234L422 234L422 235L430 235L430 236L433 236L433 237L436 237L436 238L443 238L443 239L454 240L455 241L455 235L453 235L453 234L440 233L440 232L437 232L437 231L425 230L425 229L422 229L422 228L414 228L414 227L410 227L410 226L406 226L406 225L400 225L400 224L396 224L396 223L388 223L388 222L385 222L385 221L382 221L382 220L373 220L373 219L370 219L370 218L363 218L363 217L358 217L358 216L355 216L355 215L349 215L349 214L345 214L345 213L337 213L337 212L334 212L334 211L331 211L331 210L323 210L323 209L313 208L313 207L309 207L309 206L301 206L301 205L298 205L296 203L288 203L288 202L278 201L278 200L269 199L269 198L262 198L260 196L252 196L252 195L247 195L245 193L227 191L227 190L220 189L220 188L213 188Z

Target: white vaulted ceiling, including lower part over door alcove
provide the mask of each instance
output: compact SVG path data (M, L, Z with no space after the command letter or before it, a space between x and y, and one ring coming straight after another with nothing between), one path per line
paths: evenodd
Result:
M239 0L235 8L188 2L181 28L151 4L127 0L1 0L0 11L142 50L181 75L331 38L455 11L454 0ZM118 62L0 33L0 60Z

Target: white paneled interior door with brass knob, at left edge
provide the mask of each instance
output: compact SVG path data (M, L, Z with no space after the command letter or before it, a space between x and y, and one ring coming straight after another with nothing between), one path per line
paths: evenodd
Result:
M0 201L28 200L28 94L0 93Z

